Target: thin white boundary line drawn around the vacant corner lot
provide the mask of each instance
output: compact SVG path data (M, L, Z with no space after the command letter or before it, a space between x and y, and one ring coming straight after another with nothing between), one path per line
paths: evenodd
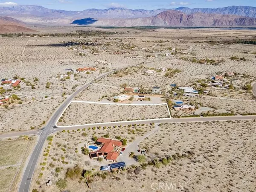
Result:
M105 105L134 105L134 106L159 106L159 105L166 105L167 106L167 110L169 112L169 118L161 118L161 119L171 119L171 113L169 111L169 107L167 103L160 103L160 104L124 104L124 103L102 103L102 102L88 102L88 101L71 101L67 107L62 111L61 115L58 117L58 119L55 122L55 126L59 127L59 128L68 128L68 127L76 127L76 126L81 126L81 125L101 125L101 124L108 124L108 123L122 123L122 122L136 122L138 120L132 120L132 121L116 121L116 122L102 122L102 123L89 123L89 124L81 124L81 125L68 125L68 126L58 126L57 122L58 120L61 118L61 116L63 115L63 113L66 111L66 109L70 106L71 103L91 103L91 104L105 104ZM160 119L142 119L139 121L151 121L151 120L160 120Z

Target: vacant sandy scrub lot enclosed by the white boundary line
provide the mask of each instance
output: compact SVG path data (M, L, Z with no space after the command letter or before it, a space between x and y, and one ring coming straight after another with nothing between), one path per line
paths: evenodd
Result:
M170 118L166 103L157 105L71 102L58 120L59 126Z

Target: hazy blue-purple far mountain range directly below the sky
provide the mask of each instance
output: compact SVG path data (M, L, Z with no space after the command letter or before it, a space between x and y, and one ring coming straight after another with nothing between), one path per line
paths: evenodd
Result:
M204 14L219 14L219 15L237 15L241 17L256 18L256 7L251 6L228 6L217 9L189 9L186 7L179 7L176 9L124 9L124 8L110 8L110 9L86 9L83 11L65 11L48 9L42 6L34 5L16 5L3 6L0 9L0 15L9 16L25 23L32 24L47 24L47 25L68 25L74 20L91 17L94 19L133 19L154 17L162 12L175 10L183 12L186 15L194 15L198 13ZM206 16L206 15L205 15ZM238 17L238 18L241 18ZM138 20L138 19L137 19ZM147 19L145 19L147 20ZM241 20L241 19L240 19ZM121 20L119 21L121 22ZM143 21L144 22L144 21ZM241 21L239 21L241 23ZM145 23L145 22L144 22Z

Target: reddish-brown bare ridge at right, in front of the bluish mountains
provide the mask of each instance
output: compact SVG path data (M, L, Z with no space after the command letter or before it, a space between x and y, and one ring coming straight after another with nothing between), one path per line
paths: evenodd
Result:
M91 19L91 18L88 18ZM84 19L87 20L87 19ZM79 23L83 20L75 20ZM80 25L82 23L79 23ZM132 19L98 19L93 26L180 26L180 27L227 27L256 26L256 18L237 15L195 13L186 15L176 10L161 12L153 17Z

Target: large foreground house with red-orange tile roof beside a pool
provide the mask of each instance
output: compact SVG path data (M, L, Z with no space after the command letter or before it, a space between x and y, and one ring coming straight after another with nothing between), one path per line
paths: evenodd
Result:
M102 145L102 147L98 151L90 152L89 156L91 159L96 159L98 157L105 157L107 161L116 161L118 157L116 147L121 147L122 142L106 139L106 138L99 138L96 141L96 144Z

